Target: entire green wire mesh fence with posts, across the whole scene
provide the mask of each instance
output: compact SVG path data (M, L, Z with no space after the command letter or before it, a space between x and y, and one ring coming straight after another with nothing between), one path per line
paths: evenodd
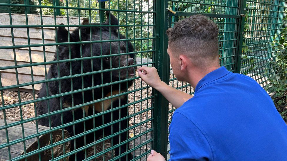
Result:
M221 65L265 87L286 2L0 1L0 158L146 160L151 149L169 158L175 108L136 67L193 94L172 73L165 31L200 13L218 25Z

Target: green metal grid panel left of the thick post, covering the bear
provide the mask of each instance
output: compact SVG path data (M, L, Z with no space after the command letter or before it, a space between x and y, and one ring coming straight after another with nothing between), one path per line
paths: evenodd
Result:
M154 98L154 95L151 92L151 87L147 86L145 83L141 82L141 79L135 75L134 77L129 77L127 79L119 79L113 80L112 82L104 82L104 73L108 72L110 73L110 77L112 77L112 72L117 70L126 70L127 75L127 69L126 66L121 66L120 63L117 67L112 67L111 63L111 55L112 56L121 56L125 55L126 59L128 59L127 55L134 54L136 55L135 61L137 61L136 65L129 65L129 67L138 67L138 66L152 66L155 64L154 58L155 56L155 45L153 45L155 41L155 24L154 21L154 8L156 7L153 5L155 2L152 0L144 0L144 1L136 1L136 0L127 0L127 1L119 1L119 0L111 0L109 2L96 4L98 6L94 7L93 3L95 1L87 1L85 6L82 6L80 1L76 1L77 5L70 6L68 1L64 1L63 6L58 6L56 3L53 4L53 6L46 6L42 5L41 1L38 1L36 4L11 4L11 3L0 3L0 6L8 7L9 9L9 22L5 22L3 25L0 26L1 29L11 29L11 45L6 46L0 46L0 51L9 49L13 51L13 63L14 65L11 66L4 66L0 67L0 74L3 73L5 70L14 70L16 73L16 77L13 79L16 79L16 83L9 85L9 86L3 86L3 78L1 78L0 75L0 92L1 92L1 102L0 105L0 111L4 114L4 121L5 125L0 127L0 130L6 131L6 138L7 143L0 145L0 150L3 148L8 148L9 158L7 160L29 160L28 157L32 155L36 155L41 160L41 152L44 150L51 150L52 152L52 160L67 160L68 156L72 156L75 153L79 153L81 151L84 151L85 159L86 160L117 160L120 157L125 156L127 153L131 153L134 155L134 160L146 160L147 155L151 151L151 143L153 142L153 120L154 117L152 116L152 110L154 109L154 106L152 104L152 99ZM13 24L13 17L14 15L11 12L12 7L24 7L25 8L25 16L26 16L26 24L25 25L14 25ZM36 25L31 25L31 21L27 16L27 9L33 8L35 10L39 10L40 14L40 20L36 22ZM44 9L52 9L52 18L54 19L53 23L51 24L45 24L43 22L43 10ZM66 25L59 25L59 22L57 22L57 11L56 10L64 10L64 13L66 15L62 15L66 17ZM70 14L71 11L76 11L78 14L76 15L79 19L79 22L77 24L69 24L69 18L74 16L74 13ZM105 18L104 11L111 11L112 14L115 15L115 17L119 20L118 25L114 24L105 24L103 25L102 22L104 22L103 18ZM89 13L89 23L86 25L81 24L81 13ZM92 14L93 13L93 14ZM94 18L99 17L99 21L96 20L96 22L100 23L99 25L91 24L91 21L94 21ZM73 17L75 18L75 17ZM83 35L79 35L79 40L72 42L70 34L68 34L68 42L58 42L57 40L57 28L60 26L65 27L68 29L68 32L71 33L72 30L74 30L75 27L86 27L89 28L89 38L84 38ZM103 29L99 29L99 38L100 40L93 40L92 35L90 34L92 32L92 27L101 27L106 26L109 28L109 34L107 39L104 39ZM119 35L116 35L118 37L117 39L111 39L111 28L112 27L119 27L119 33L126 36L124 39L120 39ZM18 42L15 41L16 37L14 37L14 28L24 28L26 29L27 38L25 41L23 41L21 44L18 44ZM41 31L41 37L37 38L40 39L40 43L33 43L33 40L35 38L30 37L29 29L32 28L38 28ZM56 33L56 43L51 43L50 41L46 40L44 38L44 29L50 28L53 29ZM87 30L86 30L87 31ZM84 32L84 29L81 28L79 32ZM113 44L120 44L124 43L126 44L126 41L130 41L131 44L134 46L135 50L133 52L129 51L120 51L120 45L119 48L116 48L116 53L111 53L111 48L113 47ZM80 45L79 45L80 44ZM100 47L97 49L100 53L98 55L93 55L94 51L91 50L94 44L99 44ZM109 53L105 53L106 50L103 49L104 45L109 46ZM60 55L60 50L63 48L63 46L66 46L65 48L68 48L68 52L66 53L66 58L62 58ZM73 50L75 49L73 46L78 45L79 46L79 56L75 57L72 55ZM52 61L46 61L46 56L48 55L48 49L50 47L56 46L56 52L55 52L55 59ZM43 57L44 60L41 62L33 62L32 60L32 53L35 50L38 50L39 48L42 48L43 50ZM16 51L15 50L25 50L29 55L29 63L28 64L21 64L21 62L17 61L16 57ZM84 56L84 53L86 51L89 51L90 55ZM114 51L114 50L113 50ZM94 60L99 60L101 63L98 64L100 70L96 69L96 66L93 65ZM109 67L104 67L104 61L110 61ZM127 61L127 60L126 60ZM86 71L87 69L84 68L85 63L89 63L91 69L89 71ZM60 66L66 64L68 69L67 71L60 69ZM33 70L35 70L36 67L43 66L44 65L44 76L45 78L43 80L34 80L35 74ZM66 72L68 74L61 75L60 74L54 78L48 78L48 70L49 66L54 65L55 66L55 72L57 73L63 73ZM75 71L74 65L79 65L80 69L77 69L79 72ZM29 68L30 75L31 75L31 81L21 83L19 82L18 77L18 71L21 69ZM94 77L95 75L99 77ZM85 81L87 81L87 77L91 77L92 85L86 87ZM127 76L126 76L127 77ZM97 79L97 80L95 80ZM70 81L70 88L68 90L63 91L62 89L65 86L65 82ZM78 85L79 87L75 87L73 85L73 82L79 81ZM132 81L133 85L129 88L125 87L127 86L128 82ZM49 86L49 83L55 83L56 86L51 87ZM46 88L46 96L37 98L37 93L35 90L35 86L39 84L44 84ZM113 89L114 85L117 85L116 89ZM126 84L126 85L125 85ZM123 87L121 88L121 86ZM69 86L69 85L68 85ZM33 99L31 100L25 100L22 101L20 88L21 87L31 87L32 89L32 95ZM56 94L49 94L47 91L50 91L50 88L55 88L59 92ZM16 89L17 91L17 99L18 102L14 102L12 104L6 104L5 98L4 98L4 91L5 90L11 90ZM109 90L111 92L110 95L104 96L103 92L100 92L100 98L95 98L95 95L97 93L94 92L94 89L100 89L100 91ZM112 91L118 90L119 93L113 94ZM91 91L91 93L87 94L87 91ZM85 100L84 98L87 96L91 96L91 100ZM126 96L129 99L126 99L126 102L119 101L119 105L114 105L114 101L112 101L113 98L120 97L120 96ZM71 99L71 102L69 105L64 102L63 98L69 97ZM77 103L77 100L80 99L82 102ZM49 102L52 102L53 99L59 99L59 105L60 109L56 111L51 111L52 105L49 104ZM104 112L97 112L96 111L96 104L99 103L101 106L103 106L103 101L108 101L111 106L113 106L111 109L108 109ZM47 109L48 112L37 115L36 110L36 104L39 104L40 101L47 101ZM23 115L22 109L28 105L33 104L33 110L35 112L34 116L32 117L25 117ZM114 103L115 104L115 103ZM89 107L89 113L86 114L85 106L91 106ZM21 119L14 122L14 123L7 123L6 118L6 112L13 109L19 109L19 114L21 116ZM92 110L92 113L91 113ZM117 115L120 115L121 113L129 113L128 116L124 116L121 118L113 118L114 115L112 115L111 119L112 121L106 123L104 122L106 114L111 114L112 112L119 111ZM67 122L64 118L64 113L69 112L72 117L73 121ZM51 120L52 116L59 116L59 126L53 126ZM81 116L81 118L77 119L75 116ZM116 116L116 115L115 115ZM45 131L38 131L38 128L36 129L36 133L33 135L25 135L24 133L24 123L35 123L36 126L38 126L39 119L47 118L48 120L48 126L49 130ZM97 126L98 119L101 119L101 125ZM83 132L76 133L79 129L76 129L76 125L78 123L83 123L84 127L87 126L88 122L92 121L90 125L93 126L91 129L85 129ZM112 126L120 126L119 124L121 121L127 121L129 124L129 128L120 128L120 131L111 131L111 135L105 135L105 128ZM90 123L90 122L89 122ZM14 140L11 140L10 134L8 133L9 129L11 127L21 125L21 131L22 138L16 138ZM62 140L53 143L49 143L49 145L41 147L39 145L39 137L44 134L49 134L50 138L52 140L52 132L56 131L58 129L63 129L66 127L71 127L74 135L71 135L69 138L64 138L64 130L62 130ZM99 138L96 138L95 136L98 135L96 133L101 133L102 136ZM120 143L115 143L114 137L123 135L127 133L126 138L123 140L120 140ZM88 135L93 135L93 139L89 140ZM26 151L26 145L25 142L29 140L30 138L36 137L38 141L37 150L33 150L31 152ZM77 147L76 139L83 137L84 138L84 145L82 147ZM110 142L108 141L110 140ZM110 146L107 145L109 142ZM12 151L10 150L11 146L14 146L18 143L24 144L24 154L18 157L11 157ZM63 155L60 156L53 156L53 150L58 145L63 145L74 143L75 150L72 150L70 152L65 151L63 149ZM123 145L129 144L130 149L125 149L123 153L121 153L119 156L115 155L116 148L121 148Z

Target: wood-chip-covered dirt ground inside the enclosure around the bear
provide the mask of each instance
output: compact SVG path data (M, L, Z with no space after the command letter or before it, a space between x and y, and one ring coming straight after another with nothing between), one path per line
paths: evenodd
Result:
M136 75L138 77L138 75ZM173 74L170 74L170 86L174 88L181 88L179 90L182 90L184 92L191 93L193 92L193 89L187 86L186 82L178 82L173 76ZM147 89L141 89L147 87L147 84L144 82L141 82L141 79L136 79L134 82L134 85L129 88L129 91L131 90L136 90L136 92L132 92L128 94L129 97L129 103L133 103L136 101L139 101L138 103L129 106L129 115L134 115L133 117L130 118L129 120L129 126L133 127L129 131L129 137L130 138L135 138L132 140L130 144L130 148L134 149L134 154L135 156L140 156L141 154L144 154L146 151L151 150L151 143L146 143L146 141L151 140L151 132L148 132L146 134L146 131L151 129L151 121L148 121L147 123L143 123L141 126L141 122L146 121L147 119L151 118L151 99L147 99L145 101L140 101L142 99L145 99L147 97L151 96L151 87ZM0 94L0 98L2 98ZM14 91L3 91L3 100L4 100L4 105L10 105L10 104L18 104L19 100L20 102L25 102L25 101L31 101L36 99L36 96L34 96L32 93L26 93L26 92L14 92ZM31 104L26 104L19 108L19 106L6 109L5 114L6 114L6 119L11 120L11 121L20 121L21 116L20 113L22 113L22 118L23 120L28 119L28 118L34 118L35 117L35 109L34 109L34 103ZM2 99L0 99L0 107L3 106ZM155 107L156 108L156 107ZM148 109L148 110L147 110ZM172 108L171 104L169 104L169 111L174 110ZM136 113L136 114L135 114ZM172 117L172 112L168 114L168 120L170 121ZM3 110L0 110L0 118L4 118L4 113ZM35 121L31 121L29 123L34 123ZM143 146L140 146L143 145ZM103 143L97 144L96 145L96 153L99 153L103 151L104 149L110 148L111 147L111 141L107 140ZM87 149L87 154L88 156L94 155L94 147L91 147ZM96 158L96 160L110 160L112 158L112 154L114 154L114 151L108 151L104 155L101 155ZM147 156L142 156L141 159L139 160L146 160Z

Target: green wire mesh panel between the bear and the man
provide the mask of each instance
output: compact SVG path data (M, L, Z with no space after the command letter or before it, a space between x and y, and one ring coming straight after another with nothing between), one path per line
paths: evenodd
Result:
M4 160L146 160L153 141L154 96L134 69L154 64L153 1L8 1L0 6L9 13L1 15L6 21L0 30L8 33L1 32L5 43L0 50L11 57L0 67ZM13 7L24 8L25 14L14 14ZM27 8L39 15L29 15ZM16 81L7 81L9 75ZM17 101L7 103L5 90L16 90ZM32 99L24 100L23 90L31 91ZM27 117L29 105L33 114ZM7 122L15 109L19 120ZM34 134L27 135L27 123L36 124ZM40 125L47 129L38 131ZM10 133L16 126L18 138ZM61 139L54 141L59 129ZM42 146L45 134L51 141ZM34 150L27 149L31 138L37 141ZM20 146L24 152L17 156ZM70 148L57 151L61 146Z

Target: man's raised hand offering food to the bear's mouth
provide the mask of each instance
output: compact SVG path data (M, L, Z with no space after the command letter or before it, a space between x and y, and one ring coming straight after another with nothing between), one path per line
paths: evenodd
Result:
M141 72L143 71L143 72ZM146 82L149 86L157 88L163 82L158 76L157 70L155 67L140 67L138 68L138 73L141 79Z

